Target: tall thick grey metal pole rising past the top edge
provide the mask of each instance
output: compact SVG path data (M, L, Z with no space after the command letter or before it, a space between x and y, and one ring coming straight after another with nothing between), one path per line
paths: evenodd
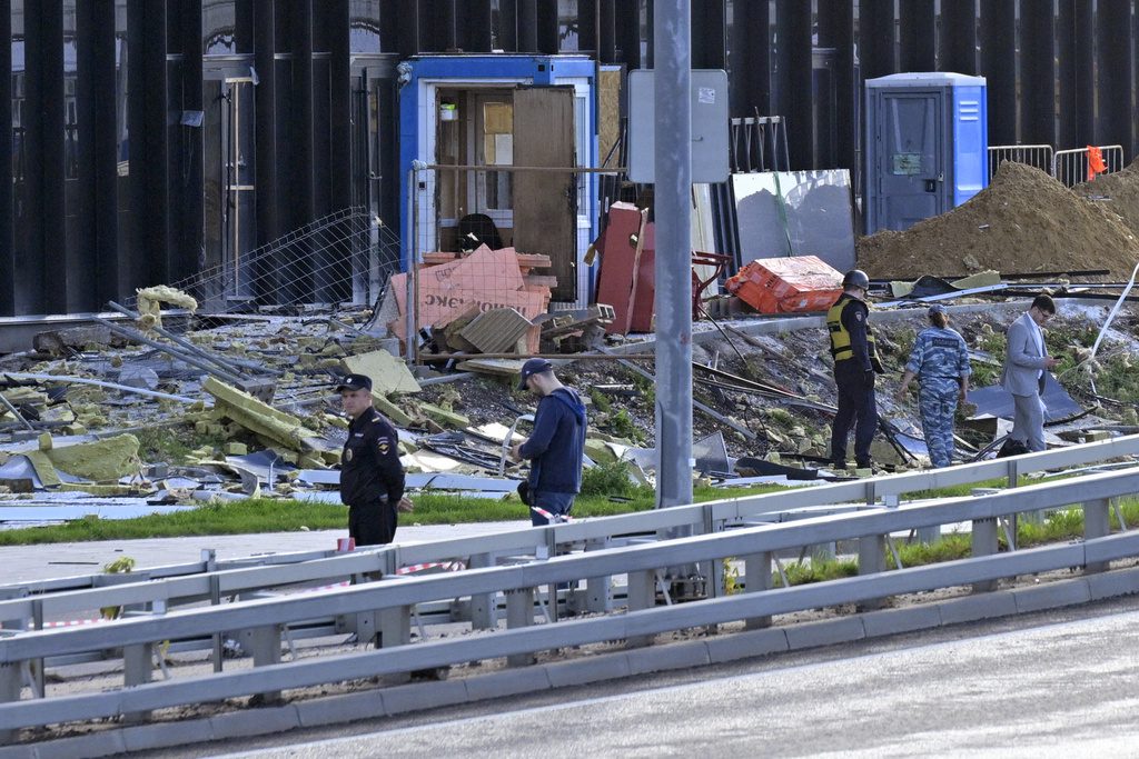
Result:
M693 502L690 14L688 0L653 6L658 509Z

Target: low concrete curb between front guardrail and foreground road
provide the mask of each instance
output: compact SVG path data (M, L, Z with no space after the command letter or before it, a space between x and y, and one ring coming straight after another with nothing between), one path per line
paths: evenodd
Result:
M868 611L790 627L770 627L615 651L476 677L412 683L277 707L243 709L178 723L130 725L89 735L0 746L0 759L107 757L125 751L191 745L226 737L269 735L298 727L391 717L642 674L690 669L871 637L936 629L982 619L1014 617L1136 593L1139 593L1139 567L1080 576L1036 587L997 591L906 609Z

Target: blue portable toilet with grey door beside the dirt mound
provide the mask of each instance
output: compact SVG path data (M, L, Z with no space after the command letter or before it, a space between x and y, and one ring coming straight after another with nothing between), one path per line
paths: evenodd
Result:
M985 79L948 72L866 82L867 234L906 230L989 183Z

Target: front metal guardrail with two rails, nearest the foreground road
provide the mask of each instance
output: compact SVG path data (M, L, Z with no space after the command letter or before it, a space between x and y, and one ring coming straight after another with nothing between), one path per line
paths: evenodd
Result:
M901 477L915 481L913 477ZM893 478L883 478L879 485L888 479ZM893 593L980 583L1024 572L1076 566L1093 571L1103 569L1104 562L1112 559L1139 554L1139 534L1105 537L1109 500L1137 492L1139 468L1130 468L976 497L898 508L878 506L853 514L601 548L517 566L432 577L391 578L327 594L254 600L154 613L100 626L16 634L0 640L0 701L7 702L0 703L0 732L9 731L5 737L10 740L10 731L21 727L116 715L142 717L151 709L237 695L268 694L272 699L282 688L491 657L506 655L511 663L526 663L531 654L546 649L614 638L639 644L646 642L644 636L669 629L740 619L756 622L770 613L860 602ZM1023 511L1073 504L1082 504L1085 512L1089 538L1085 543L994 555L998 547L997 519ZM884 536L959 521L974 522L974 559L884 571ZM860 562L862 577L821 583L808 588L768 589L775 552L839 539L860 541L860 556L865 559ZM669 609L653 608L656 577L662 568L719 563L730 556L743 558L745 562L746 597L729 596ZM538 630L524 629L534 621L535 588L581 579L593 583L613 575L626 575L629 578L630 613L588 620L555 620ZM499 591L505 592L507 597L508 630L465 636L460 641L408 645L410 619L417 604L475 597ZM346 657L325 657L317 661L306 659L280 663L282 627L328 614L370 616L375 629L380 633L383 649ZM149 682L153 668L150 654L155 645L179 637L211 635L219 629L253 632L252 671ZM23 674L30 662L51 655L118 647L123 651L124 684L130 687L105 693L19 700Z

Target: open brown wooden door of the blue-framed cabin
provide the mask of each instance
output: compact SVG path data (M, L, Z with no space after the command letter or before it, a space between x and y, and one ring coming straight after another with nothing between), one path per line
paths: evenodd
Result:
M576 165L573 86L524 86L514 94L514 165ZM514 175L514 247L550 257L554 300L577 298L577 178L573 172Z

